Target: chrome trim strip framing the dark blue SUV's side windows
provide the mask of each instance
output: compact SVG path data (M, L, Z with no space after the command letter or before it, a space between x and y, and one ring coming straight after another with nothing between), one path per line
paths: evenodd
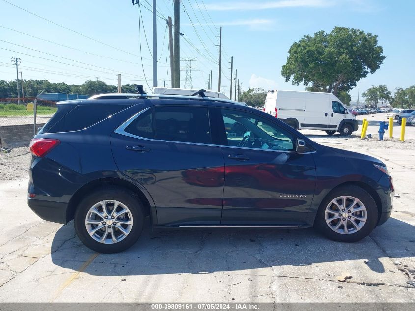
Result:
M145 140L145 141L160 141L160 142L171 142L171 143L179 143L179 144L190 144L190 145L196 145L196 146L221 147L221 148L238 148L238 149L246 149L246 150L263 150L263 151L284 152L284 153L298 153L296 151L289 151L289 150L272 150L272 149L259 149L259 148L238 147L238 146L224 146L224 145L216 145L216 144L211 144L211 143L198 143L198 142L186 142L186 141L165 141L165 140L157 140L157 139L153 139L153 138L146 138L146 137L141 137L141 136L138 136L138 135L130 134L130 133L128 133L128 132L125 131L125 129L127 128L127 126L130 125L131 122L133 122L141 114L145 113L146 111L148 111L151 108L153 108L153 106L147 107L147 108L141 110L140 112L134 114L127 121L125 121L123 124L121 124L114 131L114 133L117 133L117 134L123 135L123 136L128 136L128 137L131 137L131 138L137 138L137 139L140 139L140 140ZM207 107L207 110L208 110L208 115L209 115L209 108L208 107ZM209 126L210 126L210 116L209 116ZM211 136L212 136L212 130L211 130ZM315 151L303 152L302 154L309 154L309 153L314 153L314 152Z

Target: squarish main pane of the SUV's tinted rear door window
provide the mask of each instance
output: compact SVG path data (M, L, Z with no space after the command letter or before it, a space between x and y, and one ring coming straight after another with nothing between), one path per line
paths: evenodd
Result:
M211 143L207 107L155 107L156 139Z

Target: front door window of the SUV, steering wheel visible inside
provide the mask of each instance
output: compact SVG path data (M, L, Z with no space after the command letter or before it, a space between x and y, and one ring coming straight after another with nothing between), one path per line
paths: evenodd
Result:
M294 150L293 137L273 122L251 113L221 109L228 146Z

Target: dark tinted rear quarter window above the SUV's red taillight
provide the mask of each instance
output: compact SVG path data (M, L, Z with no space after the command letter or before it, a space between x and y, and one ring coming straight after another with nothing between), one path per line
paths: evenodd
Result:
M57 122L53 123L54 120L52 119L49 123L53 123L53 125L51 124L50 128L45 129L43 132L60 133L82 130L130 106L131 105L79 105L62 116L59 120L56 120Z

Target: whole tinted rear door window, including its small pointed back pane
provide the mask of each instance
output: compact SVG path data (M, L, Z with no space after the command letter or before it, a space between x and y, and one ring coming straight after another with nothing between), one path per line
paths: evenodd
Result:
M207 107L156 106L139 115L125 132L161 141L211 143Z

